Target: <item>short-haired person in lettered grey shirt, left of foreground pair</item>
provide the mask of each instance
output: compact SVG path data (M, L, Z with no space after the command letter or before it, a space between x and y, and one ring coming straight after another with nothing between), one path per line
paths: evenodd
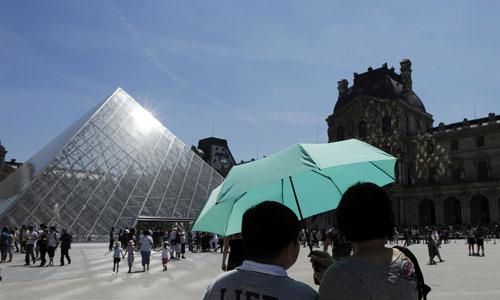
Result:
M203 299L317 299L310 286L288 277L299 253L300 223L288 207L265 201L243 215L247 260L217 277Z

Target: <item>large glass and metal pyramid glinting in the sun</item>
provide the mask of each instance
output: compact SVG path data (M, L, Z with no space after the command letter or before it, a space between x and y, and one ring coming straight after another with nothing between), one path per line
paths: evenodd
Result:
M140 218L194 219L222 180L118 88L0 183L0 225L100 240Z

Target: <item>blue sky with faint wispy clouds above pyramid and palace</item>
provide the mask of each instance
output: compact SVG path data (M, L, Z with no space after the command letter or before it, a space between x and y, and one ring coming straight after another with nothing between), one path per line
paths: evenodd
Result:
M434 125L500 114L500 2L405 2L2 1L0 139L24 161L122 87L248 160L326 142L337 81L403 58Z

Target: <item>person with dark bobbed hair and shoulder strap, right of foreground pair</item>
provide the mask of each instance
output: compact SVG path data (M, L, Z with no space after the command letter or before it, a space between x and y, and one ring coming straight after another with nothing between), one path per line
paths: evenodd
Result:
M419 297L418 262L396 248L385 247L394 234L394 221L391 201L382 188L373 183L351 186L337 207L337 221L353 254L332 264L328 253L313 251L311 262L321 299Z

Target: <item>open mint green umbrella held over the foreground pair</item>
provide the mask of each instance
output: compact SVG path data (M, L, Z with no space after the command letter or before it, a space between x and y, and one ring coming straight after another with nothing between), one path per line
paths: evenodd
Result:
M243 213L266 200L283 203L303 220L335 209L357 182L393 182L395 163L395 157L356 139L297 144L233 167L210 194L193 230L239 233Z

